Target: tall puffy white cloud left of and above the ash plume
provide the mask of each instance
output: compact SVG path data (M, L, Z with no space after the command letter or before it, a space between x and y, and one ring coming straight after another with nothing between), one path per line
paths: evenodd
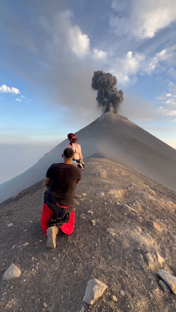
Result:
M90 40L88 35L82 33L78 25L72 25L72 17L73 13L69 10L58 14L53 34L54 43L60 45L63 42L73 54L83 57L90 52Z

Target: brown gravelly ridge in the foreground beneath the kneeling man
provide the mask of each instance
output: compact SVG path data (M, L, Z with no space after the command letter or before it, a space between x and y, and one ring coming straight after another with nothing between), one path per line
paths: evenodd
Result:
M88 280L97 278L108 288L94 305L84 305L87 312L175 311L176 295L163 292L157 272L163 268L176 276L176 193L106 159L90 158L85 166L77 192L87 195L75 207L72 235L59 234L55 250L46 247L40 228L43 180L0 205L0 310L77 312ZM98 176L100 169L107 177ZM148 251L151 267L144 257ZM3 281L11 263L21 276Z

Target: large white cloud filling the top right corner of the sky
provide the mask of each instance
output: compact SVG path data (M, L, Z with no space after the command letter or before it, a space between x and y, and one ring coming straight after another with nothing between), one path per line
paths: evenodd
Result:
M138 39L152 38L176 20L175 0L116 0L112 2L112 8L117 15L110 17L109 22L118 36L130 34Z

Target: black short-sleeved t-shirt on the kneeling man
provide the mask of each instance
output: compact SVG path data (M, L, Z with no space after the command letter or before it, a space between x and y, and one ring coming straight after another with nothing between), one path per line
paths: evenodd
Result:
M53 163L47 170L46 178L51 179L47 200L68 206L73 202L76 182L81 180L81 169L65 163Z

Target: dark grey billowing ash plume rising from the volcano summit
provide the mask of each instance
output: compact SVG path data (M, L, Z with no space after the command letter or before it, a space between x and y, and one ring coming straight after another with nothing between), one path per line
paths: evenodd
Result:
M94 71L92 87L98 90L96 100L102 106L103 114L107 112L117 113L119 104L123 101L123 91L114 87L117 79L110 73Z

